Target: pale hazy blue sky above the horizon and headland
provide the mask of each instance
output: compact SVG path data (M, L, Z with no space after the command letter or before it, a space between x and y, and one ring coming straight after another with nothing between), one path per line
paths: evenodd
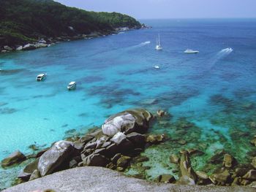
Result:
M256 18L256 0L56 0L69 7L149 18Z

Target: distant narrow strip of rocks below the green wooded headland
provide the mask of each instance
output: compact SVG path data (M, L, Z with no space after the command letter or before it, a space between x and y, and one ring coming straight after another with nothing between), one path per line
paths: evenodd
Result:
M10 53L13 51L20 51L20 50L35 50L43 47L50 47L59 42L69 42L72 40L79 40L79 39L92 39L96 37L105 37L111 34L119 34L124 31L131 31L135 29L145 29L145 28L151 28L151 27L146 26L145 24L142 24L140 28L121 27L121 28L115 28L114 31L95 31L91 34L78 34L72 37L69 37L69 36L61 36L61 37L55 37L55 38L39 37L37 41L26 42L26 43L23 43L23 45L4 45L3 47L0 47L0 53Z

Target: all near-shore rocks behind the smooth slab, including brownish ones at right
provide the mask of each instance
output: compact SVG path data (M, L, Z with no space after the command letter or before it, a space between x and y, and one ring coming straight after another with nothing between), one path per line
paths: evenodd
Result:
M143 109L119 112L105 120L102 128L92 128L80 137L68 137L53 143L50 148L29 156L17 151L2 160L1 166L7 169L28 158L34 159L20 172L15 184L81 166L102 166L126 174L129 170L135 169L139 172L132 174L132 177L146 179L145 172L151 168L143 164L149 160L147 155L143 155L146 149L154 146L161 147L162 144L172 139L178 145L187 143L181 139L182 134L178 139L169 138L164 133L148 134L148 128L152 124L169 117L170 115L162 110L158 110L155 115ZM192 130L191 123L184 123L182 127ZM254 144L255 139L251 142ZM217 169L203 172L195 170L190 160L193 155L200 156L203 153L197 148L186 147L180 150L179 154L169 154L169 159L166 161L170 161L170 164L177 167L176 172L179 177L174 177L170 172L170 174L159 174L153 180L178 185L249 185L256 187L255 158L252 158L251 164L238 164L236 158L222 150L213 154L210 159L210 164L218 165Z

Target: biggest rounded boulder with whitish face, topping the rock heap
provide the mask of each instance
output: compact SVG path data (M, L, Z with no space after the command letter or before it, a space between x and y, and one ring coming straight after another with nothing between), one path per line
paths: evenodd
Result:
M143 109L127 110L110 116L102 125L102 132L110 137L118 132L143 134L148 129L148 123L153 116Z

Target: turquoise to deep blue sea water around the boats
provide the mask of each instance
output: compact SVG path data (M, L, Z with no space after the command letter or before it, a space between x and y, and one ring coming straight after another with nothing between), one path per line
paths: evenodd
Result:
M1 54L0 159L14 150L29 154L29 145L50 145L73 128L100 126L130 107L187 118L202 139L219 131L232 141L230 128L246 131L256 120L256 20L142 22L153 28ZM158 33L162 51L154 50ZM48 77L37 82L42 72ZM67 91L70 81L76 91Z

